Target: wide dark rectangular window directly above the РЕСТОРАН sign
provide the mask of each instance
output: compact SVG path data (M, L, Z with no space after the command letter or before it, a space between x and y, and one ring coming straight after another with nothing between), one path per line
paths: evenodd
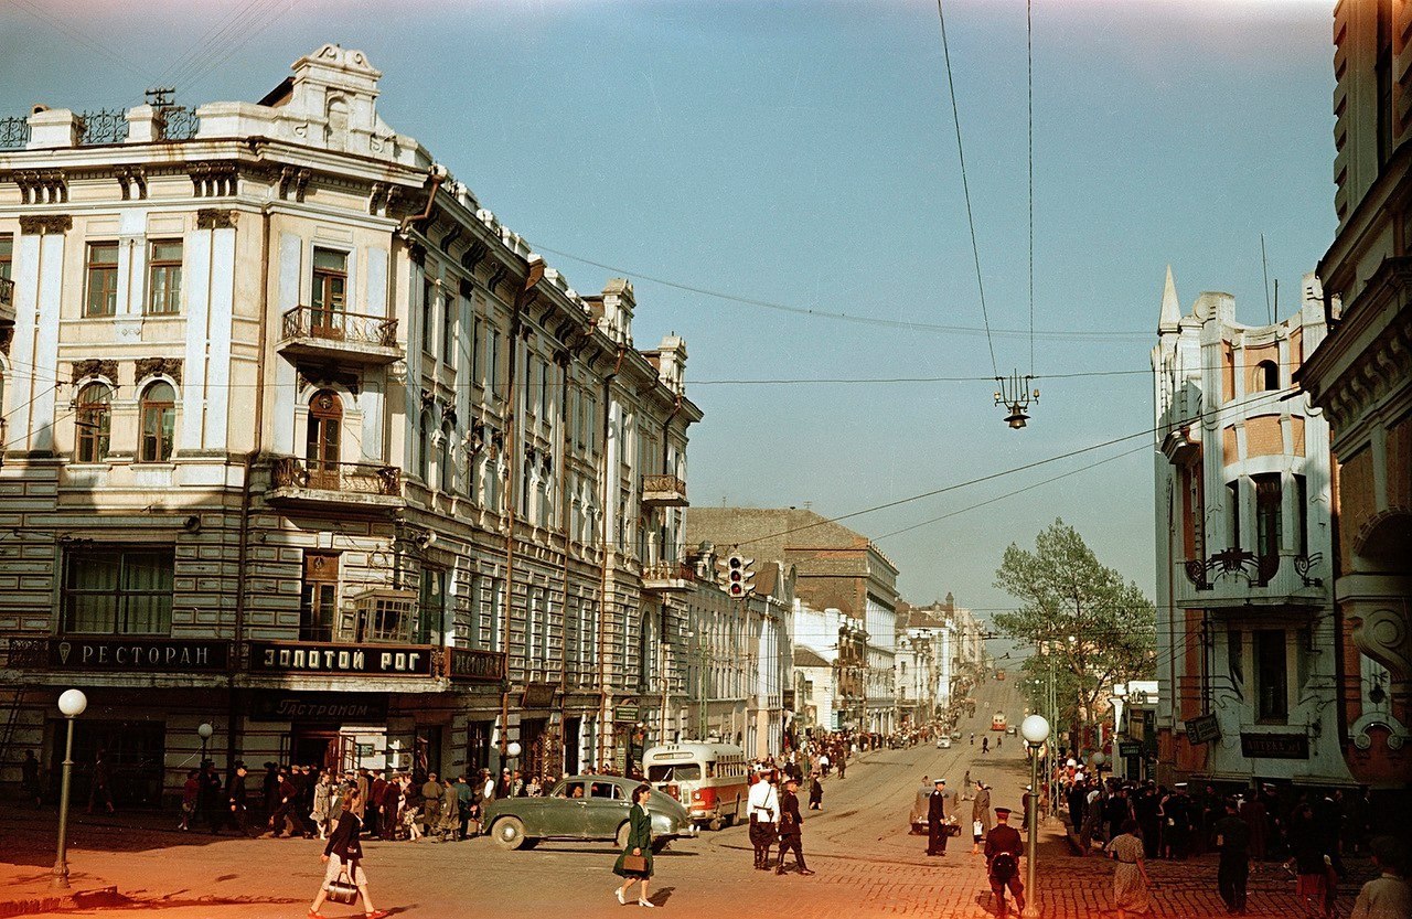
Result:
M72 549L65 555L64 631L106 635L169 635L169 548Z

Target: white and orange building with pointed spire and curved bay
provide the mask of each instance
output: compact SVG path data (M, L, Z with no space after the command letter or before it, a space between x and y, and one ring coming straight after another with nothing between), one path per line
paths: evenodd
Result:
M1329 425L1293 383L1323 336L1312 274L1292 316L1247 326L1228 294L1183 313L1168 270L1152 349L1161 781L1351 781Z

